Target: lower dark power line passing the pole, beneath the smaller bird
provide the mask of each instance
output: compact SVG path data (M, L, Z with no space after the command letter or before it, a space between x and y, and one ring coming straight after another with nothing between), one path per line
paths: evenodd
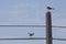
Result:
M18 37L18 38L0 38L2 41L8 41L8 40L46 40L45 37ZM56 41L66 41L66 38L53 38Z

